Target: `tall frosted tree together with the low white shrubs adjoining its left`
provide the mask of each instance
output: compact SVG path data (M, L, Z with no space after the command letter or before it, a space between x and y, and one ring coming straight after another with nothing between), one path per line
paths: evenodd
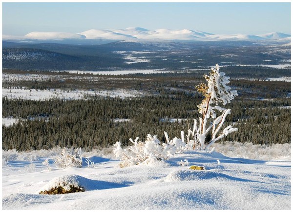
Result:
M181 131L181 139L175 137L172 140L169 140L167 133L164 132L166 142L161 142L155 135L150 134L147 135L146 141L138 141L138 138L135 141L130 139L133 145L126 148L122 148L121 143L116 142L114 154L122 161L120 167L147 164L152 160L167 160L172 154L187 149L205 150L229 133L237 131L237 128L230 125L220 132L231 109L220 107L219 104L226 105L238 94L226 85L230 82L229 77L219 70L219 65L216 64L209 75L204 75L208 83L195 86L205 98L201 104L197 105L202 117L199 118L199 124L194 119L193 130L188 129L187 141L185 141L184 131ZM210 130L210 139L206 141ZM190 140L191 135L194 140ZM181 164L184 165L183 162Z

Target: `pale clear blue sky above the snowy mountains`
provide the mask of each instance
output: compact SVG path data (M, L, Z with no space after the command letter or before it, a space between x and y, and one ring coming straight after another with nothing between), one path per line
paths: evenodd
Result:
M214 34L291 34L290 2L2 3L2 34L89 29L191 29Z

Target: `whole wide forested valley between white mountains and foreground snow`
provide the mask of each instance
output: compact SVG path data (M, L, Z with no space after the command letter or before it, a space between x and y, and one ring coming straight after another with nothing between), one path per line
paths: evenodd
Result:
M148 133L179 136L199 117L203 96L194 86L215 63L238 93L228 105L227 125L239 131L221 142L291 141L287 41L3 42L2 59L6 150L92 150L117 141L128 145L129 138L144 139Z

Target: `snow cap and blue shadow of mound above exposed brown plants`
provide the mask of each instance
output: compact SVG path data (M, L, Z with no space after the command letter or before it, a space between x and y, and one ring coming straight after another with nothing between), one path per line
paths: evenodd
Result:
M84 191L98 190L98 189L108 189L108 188L122 188L126 185L110 183L99 180L91 180L80 175L70 174L61 177L56 177L48 182L45 186L41 188L41 191L50 190L52 188L63 187L65 190L70 190L70 186L76 188L83 188Z

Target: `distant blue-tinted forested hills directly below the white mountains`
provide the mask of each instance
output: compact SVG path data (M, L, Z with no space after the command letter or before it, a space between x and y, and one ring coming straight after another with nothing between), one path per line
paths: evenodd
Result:
M210 42L112 42L103 45L15 44L3 43L2 67L26 71L115 71L164 69L199 71L220 66L290 66L291 46L284 43L252 41ZM286 67L286 66L284 66ZM283 68L284 68L283 67ZM234 67L233 67L234 68ZM244 68L241 69L241 71ZM195 72L196 72L195 71ZM224 71L224 70L223 70ZM267 71L267 70L264 70ZM261 71L245 78L263 78ZM289 76L290 71L272 71ZM244 77L233 72L231 77ZM267 77L267 75L265 75Z

